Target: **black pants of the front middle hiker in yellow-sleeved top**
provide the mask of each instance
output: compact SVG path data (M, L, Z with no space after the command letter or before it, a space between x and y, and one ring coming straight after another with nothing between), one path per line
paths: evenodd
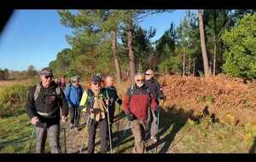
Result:
M88 141L88 149L89 153L94 153L95 150L95 140L96 140L96 129L99 127L100 136L101 136L101 153L106 153L108 148L108 120L102 119L100 121L96 121L91 119L89 122L88 131L89 131L89 141Z

